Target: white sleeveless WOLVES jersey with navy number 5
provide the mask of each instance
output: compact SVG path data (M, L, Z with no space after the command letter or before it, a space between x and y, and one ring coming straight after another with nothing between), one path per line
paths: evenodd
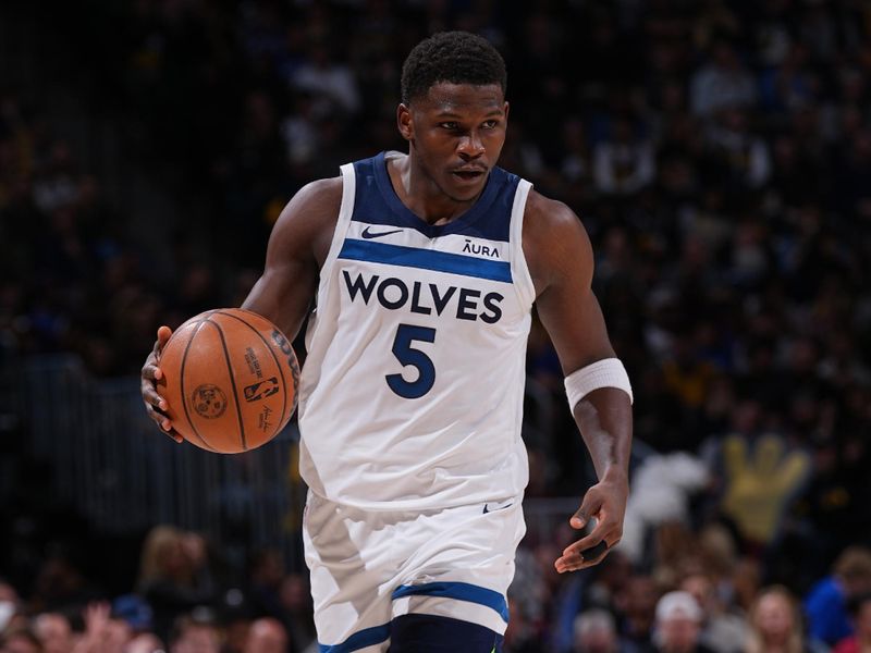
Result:
M429 225L395 194L383 152L342 177L299 389L303 478L363 509L518 496L530 184L495 168L466 213Z

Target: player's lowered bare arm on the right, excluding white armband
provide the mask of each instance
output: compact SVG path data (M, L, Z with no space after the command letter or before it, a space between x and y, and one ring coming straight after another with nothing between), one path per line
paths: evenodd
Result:
M562 202L530 193L524 219L524 254L536 286L538 313L556 348L563 373L578 379L585 377L584 370L593 369L588 367L592 364L619 366L592 292L592 247L577 215ZM627 392L604 384L582 395L572 409L599 481L587 491L569 520L573 528L592 528L565 549L555 563L560 572L599 563L606 550L590 559L581 552L600 542L610 549L619 541L629 494L633 420Z

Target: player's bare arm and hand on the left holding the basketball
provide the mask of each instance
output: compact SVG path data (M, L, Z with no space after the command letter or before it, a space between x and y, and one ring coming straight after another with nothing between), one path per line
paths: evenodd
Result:
M242 308L271 320L291 341L308 315L341 204L341 177L312 182L294 195L272 229L263 273L242 304ZM142 395L148 417L182 442L167 417L167 401L157 392L157 381L163 377L158 360L171 335L169 326L158 329L155 347L142 370Z

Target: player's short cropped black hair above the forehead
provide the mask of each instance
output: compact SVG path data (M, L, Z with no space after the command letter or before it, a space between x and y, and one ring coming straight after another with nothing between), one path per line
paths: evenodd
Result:
M507 88L505 61L490 41L468 32L440 32L425 38L402 66L402 102L427 95L440 82Z

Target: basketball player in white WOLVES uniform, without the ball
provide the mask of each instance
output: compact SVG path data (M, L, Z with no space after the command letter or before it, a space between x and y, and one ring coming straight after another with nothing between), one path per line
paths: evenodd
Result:
M482 38L444 33L416 46L396 111L408 153L343 165L299 190L244 303L289 336L308 319L300 471L321 651L500 650L525 532L533 304L599 481L571 518L594 528L556 569L594 565L604 554L582 552L622 534L631 390L590 288L579 220L495 165L505 84ZM169 335L160 329L143 396L174 434L155 390Z

